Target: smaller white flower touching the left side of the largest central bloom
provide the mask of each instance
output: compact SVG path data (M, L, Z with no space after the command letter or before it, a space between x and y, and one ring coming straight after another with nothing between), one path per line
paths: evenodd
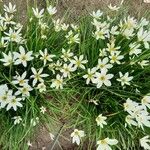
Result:
M95 79L95 72L96 72L97 68L94 67L92 69L88 68L87 70L87 74L85 74L83 76L84 79L86 79L86 84L89 84L90 81L93 83L94 79Z

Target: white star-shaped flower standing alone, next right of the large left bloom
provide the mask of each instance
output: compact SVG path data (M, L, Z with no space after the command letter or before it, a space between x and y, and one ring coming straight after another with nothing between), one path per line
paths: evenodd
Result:
M46 65L47 61L53 61L52 58L55 57L55 55L49 55L47 52L47 48L45 48L44 52L42 52L41 50L39 51L41 57L40 59L44 61L44 66Z

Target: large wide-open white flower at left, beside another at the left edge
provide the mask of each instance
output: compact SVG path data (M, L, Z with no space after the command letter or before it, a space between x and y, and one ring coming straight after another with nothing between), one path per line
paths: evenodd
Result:
M32 57L32 51L26 53L25 49L22 46L20 46L19 52L20 53L13 52L15 59L14 64L22 64L24 67L27 67L27 61L31 61L32 59L34 59L34 57Z

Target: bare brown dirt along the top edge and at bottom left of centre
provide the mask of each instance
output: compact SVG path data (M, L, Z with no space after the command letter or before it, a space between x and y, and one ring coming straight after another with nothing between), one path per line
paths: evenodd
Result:
M59 15L63 14L66 10L70 12L70 18L74 20L78 16L87 14L92 10L97 9L107 9L107 5L117 4L121 0L56 0L57 8ZM45 0L3 0L4 4L12 2L17 5L19 12L19 20L24 22L26 20L26 10L27 3L32 6L37 2L39 7L45 7ZM3 4L0 0L0 6ZM150 4L144 4L142 0L125 0L125 5L129 6L130 14L137 17L144 14L147 10L150 10ZM57 127L57 128L56 128ZM57 137L58 131L61 129L62 124L55 126L55 136ZM69 130L63 130L63 137L70 137ZM55 144L55 141L50 140L49 132L43 126L41 126L37 132L35 140L33 141L33 146L30 150L75 150L75 146L68 141L68 139L63 138L62 136L58 137L58 141ZM69 139L70 140L70 139ZM55 145L53 147L53 145ZM52 148L53 147L53 148ZM43 148L43 149L42 149Z

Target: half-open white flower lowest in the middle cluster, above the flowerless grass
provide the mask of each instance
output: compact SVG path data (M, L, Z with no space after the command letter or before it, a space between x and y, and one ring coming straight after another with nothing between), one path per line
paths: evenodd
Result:
M59 74L56 75L56 79L52 80L51 88L62 89L63 88L63 77Z

